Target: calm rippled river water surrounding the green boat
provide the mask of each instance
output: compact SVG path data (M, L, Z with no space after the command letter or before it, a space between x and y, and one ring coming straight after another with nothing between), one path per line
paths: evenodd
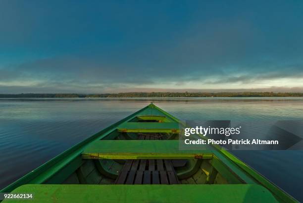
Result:
M303 120L303 98L0 99L0 188L154 102L184 120ZM303 151L233 151L303 202Z

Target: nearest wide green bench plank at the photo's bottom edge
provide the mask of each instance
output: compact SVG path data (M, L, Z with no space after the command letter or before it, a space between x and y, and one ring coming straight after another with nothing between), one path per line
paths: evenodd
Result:
M277 203L259 185L24 185L13 193L33 193L32 200L10 203ZM138 195L140 194L140 195Z

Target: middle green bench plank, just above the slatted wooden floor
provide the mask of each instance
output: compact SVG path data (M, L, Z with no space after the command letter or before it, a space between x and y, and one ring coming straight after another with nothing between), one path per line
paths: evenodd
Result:
M180 150L178 140L101 140L88 146L83 158L136 159L169 157L212 158L212 151ZM176 156L176 157L174 157Z

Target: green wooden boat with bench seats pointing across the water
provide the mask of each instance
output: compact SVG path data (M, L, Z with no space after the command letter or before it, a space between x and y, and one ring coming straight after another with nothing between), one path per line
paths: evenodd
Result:
M179 150L180 122L150 104L0 191L31 201L3 202L298 202L230 152Z

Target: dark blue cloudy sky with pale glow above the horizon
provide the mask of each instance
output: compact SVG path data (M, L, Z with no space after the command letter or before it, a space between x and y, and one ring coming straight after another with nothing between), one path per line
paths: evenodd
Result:
M303 92L300 0L0 0L0 93Z

